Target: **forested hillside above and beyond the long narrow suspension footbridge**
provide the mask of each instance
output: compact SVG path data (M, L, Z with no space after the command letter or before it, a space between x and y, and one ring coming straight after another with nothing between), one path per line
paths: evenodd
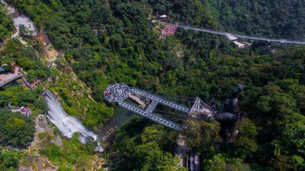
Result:
M154 14L182 24L221 28L248 35L304 38L305 4L296 1L149 0Z

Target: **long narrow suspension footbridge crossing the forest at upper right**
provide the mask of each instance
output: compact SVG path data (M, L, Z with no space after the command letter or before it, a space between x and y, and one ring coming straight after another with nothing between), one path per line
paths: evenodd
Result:
M239 35L239 34L234 34L234 33L227 33L224 31L216 31L208 28L196 28L192 26L184 26L184 25L179 25L179 24L170 24L167 22L161 22L162 24L165 24L167 26L176 26L178 28L183 28L186 30L191 30L191 31L201 31L205 33L212 33L212 34L217 34L217 35L222 35L222 36L233 36L236 38L245 38L245 39L250 39L254 41L269 41L269 42L276 42L276 43L288 43L288 44L301 44L305 45L305 41L296 41L296 40L290 40L286 38L267 38L267 37L258 37L258 36L244 36L244 35Z

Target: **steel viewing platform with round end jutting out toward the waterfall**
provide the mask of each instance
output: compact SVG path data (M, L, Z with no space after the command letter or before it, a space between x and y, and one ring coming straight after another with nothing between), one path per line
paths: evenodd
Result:
M185 105L181 105L179 103L172 102L165 98L160 97L159 95L155 95L152 93L148 93L145 90L140 90L138 88L128 87L123 83L115 83L109 85L104 91L105 99L118 103L121 107L132 111L133 113L137 113L145 118L155 121L156 123L160 123L165 125L168 128L173 130L181 131L181 125L168 120L166 118L162 118L159 115L155 115L153 111L157 107L158 104L165 105L166 107L178 110L189 117L196 117L198 115L205 115L206 118L210 118L214 115L214 112L211 110L210 106L205 105L205 103L197 98L192 108L188 108ZM145 101L149 101L150 104L147 108L138 107L138 105L133 105L125 102L127 98L133 95L138 97L139 99L144 99Z

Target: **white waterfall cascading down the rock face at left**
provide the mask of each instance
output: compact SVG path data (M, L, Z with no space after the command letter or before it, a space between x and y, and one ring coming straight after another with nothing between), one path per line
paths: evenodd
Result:
M46 90L44 96L48 104L48 119L56 125L65 137L72 138L73 133L81 133L79 140L84 144L88 139L97 140L98 135L88 130L80 120L66 114L61 103L50 91Z

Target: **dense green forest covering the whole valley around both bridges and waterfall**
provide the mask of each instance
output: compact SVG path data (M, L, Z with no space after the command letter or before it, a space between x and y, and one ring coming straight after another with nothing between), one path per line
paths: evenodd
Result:
M192 129L182 134L188 138L189 150L200 155L201 170L305 169L304 46L254 42L248 48L238 49L224 37L184 30L159 39L157 24L149 20L150 15L167 14L170 21L205 28L255 35L304 36L303 0L9 2L43 28L58 51L65 52L62 61L58 61L59 71L31 68L35 65L29 65L29 70L36 71L34 76L51 75L49 86L58 92L65 110L90 128L97 130L113 115L108 108L110 104L103 98L103 90L109 83L124 82L172 97L198 95L203 100L214 99L219 111L234 87L242 84L244 91L239 105L245 116L236 123L237 140L222 140L217 122L185 121ZM29 55L31 50L20 47L18 41L9 42L7 47L24 51L24 55L13 57L17 63L29 56L38 58ZM3 51L4 56L14 54L7 53L11 48ZM91 88L94 102L87 100L87 94L78 98L71 95L67 85L77 90L83 90L83 86L69 79L68 72L61 73L67 68ZM12 99L8 91L4 94ZM0 105L7 101L0 99ZM35 100L30 102L35 103ZM176 138L175 131L135 117L117 130L105 158L112 170L183 170L177 168L178 160L174 157ZM74 139L71 141L82 149L65 153L48 145L41 154L60 166L81 161L69 160L71 155L91 154L91 149L84 150ZM214 142L222 142L222 147L215 147Z

